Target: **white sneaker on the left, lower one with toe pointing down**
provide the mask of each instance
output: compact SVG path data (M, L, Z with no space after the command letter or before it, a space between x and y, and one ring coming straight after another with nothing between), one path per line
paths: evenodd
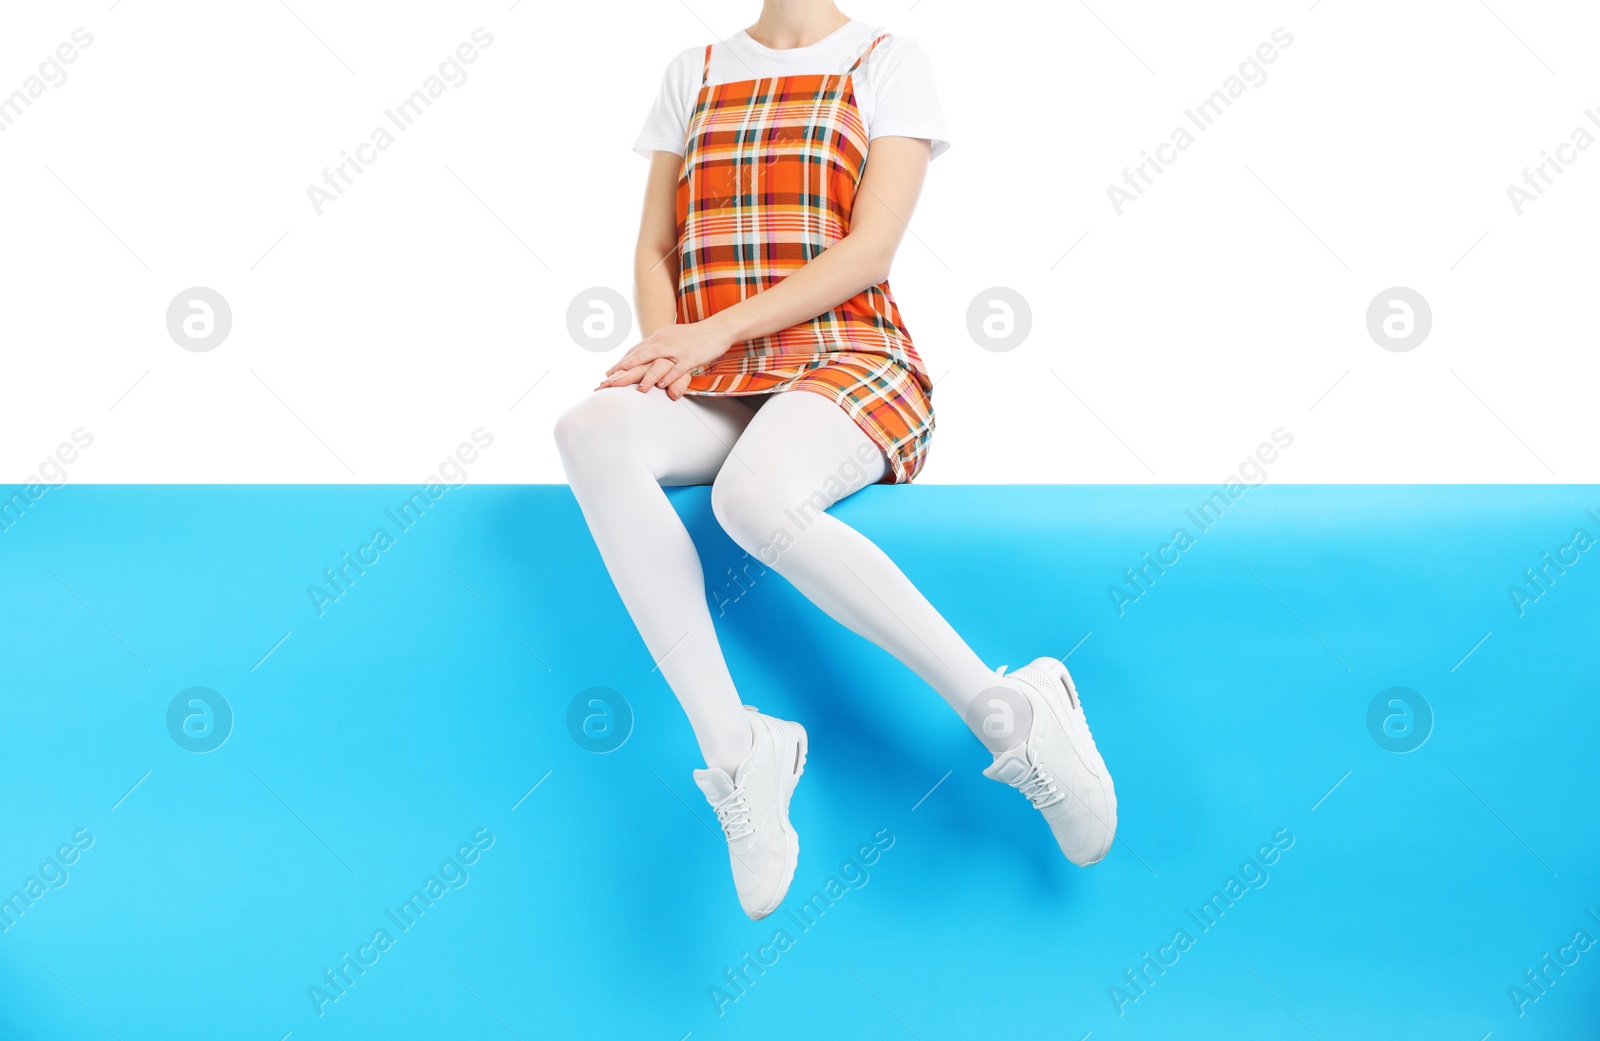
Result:
M755 747L733 777L720 768L694 771L694 784L717 811L728 838L733 887L750 918L766 918L782 903L800 860L800 836L789 825L789 796L805 772L805 728L763 716L752 705Z

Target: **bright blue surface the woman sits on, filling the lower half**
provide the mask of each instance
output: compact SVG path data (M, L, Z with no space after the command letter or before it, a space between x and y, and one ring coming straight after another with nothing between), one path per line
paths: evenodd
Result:
M746 702L811 736L760 923L565 486L451 489L318 617L307 585L411 491L66 486L0 534L0 895L94 836L0 934L0 1038L1595 1036L1600 947L1523 1015L1507 988L1600 937L1600 548L1523 617L1507 585L1600 536L1600 489L1264 486L1205 532L1198 486L843 502L992 665L1070 651L1120 796L1090 870L893 659L774 572L731 600L742 552L674 491ZM1179 524L1195 545L1118 617L1107 587ZM192 686L234 713L203 755L166 724ZM597 686L634 716L605 755L568 728ZM1368 729L1389 688L1430 705L1414 752ZM469 881L400 932L386 908L478 828ZM787 916L880 830L864 884ZM307 988L379 927L318 1015Z

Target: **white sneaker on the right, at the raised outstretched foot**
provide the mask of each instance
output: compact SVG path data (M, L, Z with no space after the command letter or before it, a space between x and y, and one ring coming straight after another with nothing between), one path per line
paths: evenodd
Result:
M1005 676L1005 665L997 670ZM1117 833L1117 792L1094 747L1067 667L1040 657L1006 676L1034 708L1027 739L995 756L984 777L1003 780L1045 814L1067 860L1099 864Z

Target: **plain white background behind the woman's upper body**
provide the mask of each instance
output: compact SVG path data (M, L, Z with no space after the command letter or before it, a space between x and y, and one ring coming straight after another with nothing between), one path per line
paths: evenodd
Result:
M1594 481L1592 5L854 3L918 38L954 147L891 285L939 379L928 483ZM610 358L566 310L632 296L646 162L683 46L758 5L6 5L0 94L94 42L0 133L0 480L77 427L72 481L416 483L477 427L475 481L560 481L549 432ZM317 216L306 187L475 27L493 45ZM1293 45L1118 216L1107 185L1277 27ZM229 301L216 350L166 309ZM966 334L989 286L1018 349ZM1389 286L1434 326L1366 333ZM629 341L632 342L632 341Z

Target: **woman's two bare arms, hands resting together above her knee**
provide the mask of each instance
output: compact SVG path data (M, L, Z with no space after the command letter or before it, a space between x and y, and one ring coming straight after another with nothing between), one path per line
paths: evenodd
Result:
M659 261L664 241L661 238L661 213L666 213L669 237L674 235L675 229L677 168L674 166L670 184L664 174L658 179L658 165L666 165L662 155L672 154L658 152L651 163L635 269L645 269ZM928 160L930 146L920 138L878 138L874 141L866 173L861 177L861 189L856 193L850 233L778 285L726 307L704 321L670 325L670 315L675 315L675 310L661 310L658 301L666 297L658 296L658 291L661 285L667 285L667 277L661 273L667 264L661 264L648 280L638 275L635 293L640 328L648 329L648 333L621 361L606 369L606 379L600 387L627 384L637 384L640 390L662 387L669 397L678 398L683 387L688 385L691 369L720 358L734 344L808 321L867 286L875 286L888 278L890 264L906 235L906 222L917 206L917 197L922 195ZM646 235L650 235L648 248ZM675 243L669 243L666 249L670 253L674 246ZM669 289L667 296L675 301L675 254L669 264L672 265L670 286L674 288ZM646 307L651 309L650 315L645 313ZM661 313L669 317L658 321Z

